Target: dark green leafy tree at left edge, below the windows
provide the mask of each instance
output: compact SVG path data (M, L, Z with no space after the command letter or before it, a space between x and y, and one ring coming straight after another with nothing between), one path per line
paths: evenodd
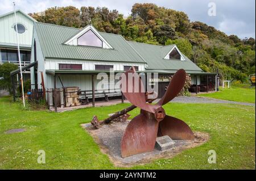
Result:
M10 94L12 93L12 86L11 86L11 71L18 69L18 65L5 63L0 65L0 87L3 89L8 89Z

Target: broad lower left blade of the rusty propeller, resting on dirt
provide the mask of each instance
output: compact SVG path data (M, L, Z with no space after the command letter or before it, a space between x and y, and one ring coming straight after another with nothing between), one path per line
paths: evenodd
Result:
M122 157L152 151L155 148L158 121L143 113L134 117L127 125L121 141Z

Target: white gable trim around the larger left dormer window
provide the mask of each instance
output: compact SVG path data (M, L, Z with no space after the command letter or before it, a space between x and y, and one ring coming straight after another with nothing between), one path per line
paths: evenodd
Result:
M84 27L84 29L82 29L79 33L77 33L75 36L73 36L71 39L69 39L68 41L65 41L64 44L67 45L77 45L77 39L84 35L84 33L86 33L87 31L92 30L93 33L95 33L96 36L98 36L98 38L102 41L103 44L103 48L109 48L109 49L113 49L113 47L100 35L100 33L98 33L98 31L96 30L96 28L94 28L92 25L88 25L86 27ZM104 45L105 44L105 45Z

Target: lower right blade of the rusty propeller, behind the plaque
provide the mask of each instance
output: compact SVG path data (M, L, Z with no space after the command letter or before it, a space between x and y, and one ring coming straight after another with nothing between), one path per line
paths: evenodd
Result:
M159 123L160 136L168 135L172 140L193 140L194 134L189 126L176 117L167 116L164 117Z

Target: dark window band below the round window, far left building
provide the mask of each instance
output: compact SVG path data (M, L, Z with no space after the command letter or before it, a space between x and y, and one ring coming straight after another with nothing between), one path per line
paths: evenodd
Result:
M20 50L20 61L30 61L30 51ZM18 63L18 50L2 49L1 50L2 61L10 61Z

